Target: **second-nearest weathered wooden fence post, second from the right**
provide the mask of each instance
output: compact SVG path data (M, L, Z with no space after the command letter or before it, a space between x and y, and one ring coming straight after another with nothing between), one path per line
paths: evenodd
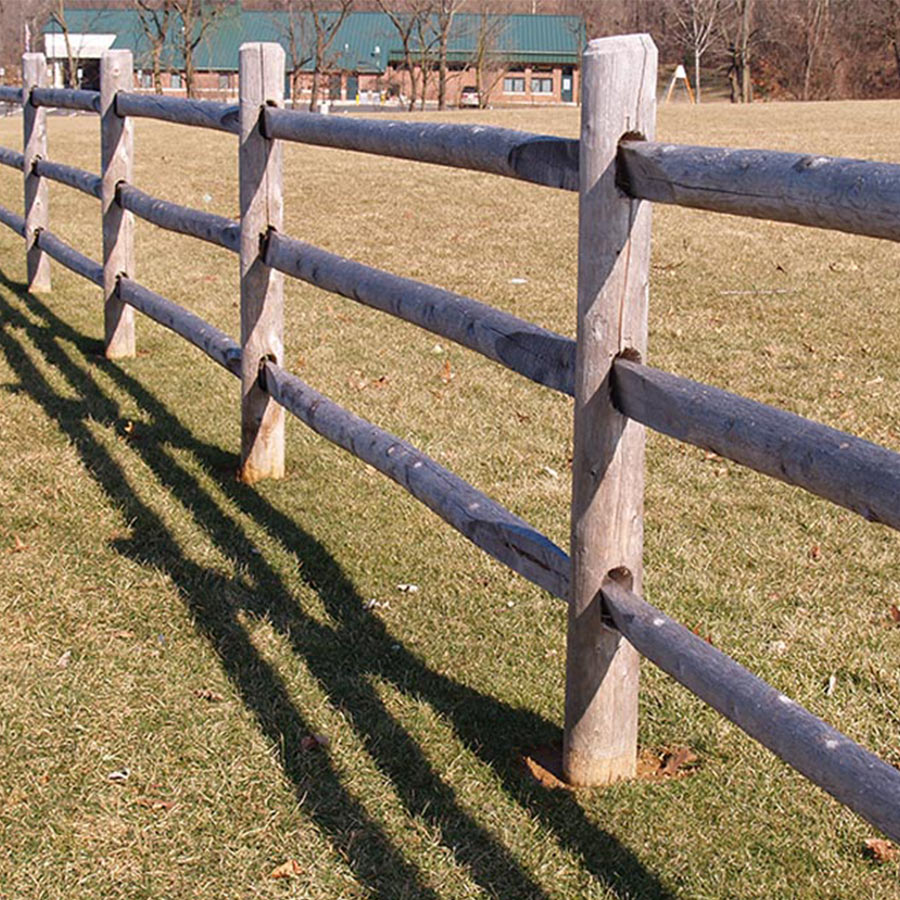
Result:
M284 50L244 44L240 51L241 470L242 481L284 476L284 410L259 385L260 364L284 356L284 276L262 259L269 228L280 229L281 141L261 131L266 105L284 100Z

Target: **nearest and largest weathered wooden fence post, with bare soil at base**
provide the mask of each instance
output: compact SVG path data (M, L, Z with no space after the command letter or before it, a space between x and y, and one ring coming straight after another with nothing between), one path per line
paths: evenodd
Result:
M656 47L603 38L583 60L563 771L599 785L633 776L637 755L638 654L604 618L600 586L624 568L641 590L644 430L613 407L610 374L620 353L646 353L650 205L617 187L616 149L626 134L653 139Z

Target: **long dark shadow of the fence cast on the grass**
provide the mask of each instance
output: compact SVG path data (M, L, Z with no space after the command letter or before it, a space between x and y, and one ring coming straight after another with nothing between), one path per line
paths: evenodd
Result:
M158 568L172 580L261 731L279 748L280 763L302 798L305 814L346 858L355 878L372 896L387 900L437 894L342 784L327 755L301 750L301 739L313 729L294 705L278 673L253 646L238 619L241 610L267 616L290 641L332 706L345 711L374 764L390 779L407 814L436 830L439 827L444 846L489 896L513 900L544 897L546 893L512 853L463 810L453 788L385 708L372 685L374 678L422 699L452 723L457 738L492 767L507 794L551 831L562 847L581 857L598 882L628 895L673 896L628 848L588 821L572 795L547 792L521 773L514 747L556 738L556 726L433 672L405 647L398 646L381 620L365 609L355 587L327 550L255 490L234 480L237 459L233 454L197 439L123 367L107 361L99 341L74 329L2 270L0 286L15 294L25 307L23 310L11 298L0 296L0 350L16 373L20 389L71 440L110 502L127 520L134 521L134 537L117 541L116 549L141 564ZM27 336L34 349L65 378L77 399L53 389L9 326ZM116 400L104 392L88 368L63 349L60 341L92 358L96 367L149 418L151 424L142 429L141 440L131 442L130 447L159 484L191 513L196 526L218 550L253 579L252 587L242 586L240 591L246 603L236 606L227 599L228 589L233 591L235 586L232 579L185 557L164 522L136 496L118 463L91 435L89 420L121 429L124 419ZM319 594L335 627L303 612L277 572L261 554L253 552L240 523L223 512L167 447L190 452L230 502L291 548L306 583Z

